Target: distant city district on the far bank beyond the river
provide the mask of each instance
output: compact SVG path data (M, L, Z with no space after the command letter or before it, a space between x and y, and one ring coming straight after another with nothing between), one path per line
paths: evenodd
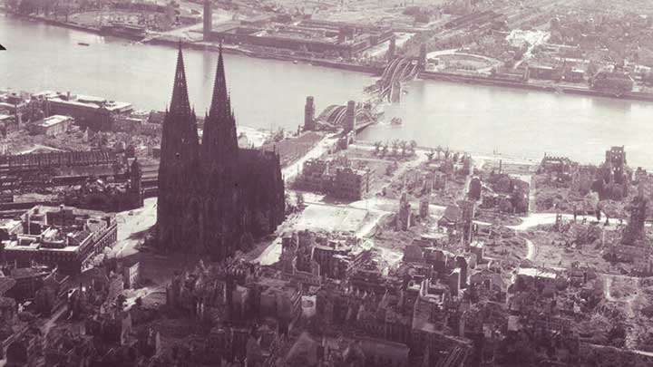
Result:
M141 43L224 43L228 52L374 73L388 60L419 56L424 79L653 100L649 6L637 13L580 0L500 3L9 0L5 10Z

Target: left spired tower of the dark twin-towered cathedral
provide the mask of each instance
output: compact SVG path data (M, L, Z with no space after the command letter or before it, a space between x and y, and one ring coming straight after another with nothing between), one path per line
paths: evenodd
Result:
M181 43L170 109L163 118L157 243L162 249L189 248L199 242L199 138L195 112L190 108Z

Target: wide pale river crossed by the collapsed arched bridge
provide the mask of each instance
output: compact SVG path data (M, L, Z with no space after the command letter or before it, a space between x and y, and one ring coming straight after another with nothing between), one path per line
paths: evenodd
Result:
M88 47L77 43L90 43ZM129 44L0 15L0 88L72 91L129 101L138 109L165 108L176 61L171 47ZM370 75L275 60L225 56L239 124L297 129L304 101L317 111L364 97ZM217 53L187 50L190 101L198 114L210 102ZM364 140L416 140L420 145L539 159L544 152L599 162L612 145L625 145L631 166L653 168L653 103L414 81L400 104L385 106L385 121Z

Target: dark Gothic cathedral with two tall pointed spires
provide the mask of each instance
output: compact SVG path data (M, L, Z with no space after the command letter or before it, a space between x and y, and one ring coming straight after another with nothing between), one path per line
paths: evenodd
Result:
M238 146L221 48L200 143L180 45L163 120L156 246L219 261L274 232L284 211L278 152Z

